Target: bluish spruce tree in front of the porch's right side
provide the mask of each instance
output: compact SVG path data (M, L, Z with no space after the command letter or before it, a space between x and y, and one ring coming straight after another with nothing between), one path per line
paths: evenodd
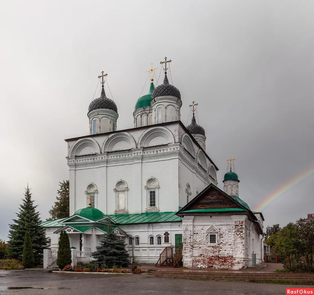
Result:
M108 267L128 266L129 253L125 249L124 240L119 240L112 229L111 223L108 225L108 233L100 240L96 251L91 256L98 262L105 262Z

